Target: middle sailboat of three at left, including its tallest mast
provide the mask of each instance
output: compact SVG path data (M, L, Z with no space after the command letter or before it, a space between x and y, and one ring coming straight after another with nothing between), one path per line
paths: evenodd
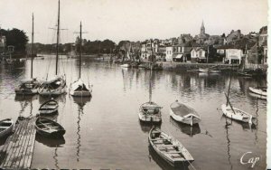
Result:
M58 28L57 28L57 44L56 44L56 69L55 76L51 80L45 80L39 88L39 93L43 96L56 96L66 93L65 75L58 75L58 61L59 61L59 41L60 41L60 5L58 10Z

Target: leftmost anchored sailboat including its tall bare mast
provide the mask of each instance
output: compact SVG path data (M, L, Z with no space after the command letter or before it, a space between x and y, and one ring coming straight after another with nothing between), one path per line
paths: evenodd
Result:
M32 15L33 22L33 15ZM31 79L22 80L20 85L15 89L16 95L34 95L38 93L40 82L33 78L33 24L32 24L32 55L31 55Z

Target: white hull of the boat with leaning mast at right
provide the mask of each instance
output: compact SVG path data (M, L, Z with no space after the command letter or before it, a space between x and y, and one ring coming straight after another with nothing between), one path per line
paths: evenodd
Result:
M249 123L249 124L256 123L256 120L257 120L256 117L250 115L249 113L241 109L237 109L233 107L231 108L229 105L227 106L226 104L222 104L221 109L222 109L223 114L228 118L232 118L232 119Z

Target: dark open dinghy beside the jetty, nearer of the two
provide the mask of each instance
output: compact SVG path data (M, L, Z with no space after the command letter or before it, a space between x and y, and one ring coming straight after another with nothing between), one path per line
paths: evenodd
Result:
M66 132L59 123L42 117L37 118L35 127L37 133L44 137L62 137Z

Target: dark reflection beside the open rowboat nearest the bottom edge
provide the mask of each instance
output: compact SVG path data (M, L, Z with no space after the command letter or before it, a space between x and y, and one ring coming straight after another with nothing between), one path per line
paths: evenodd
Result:
M148 146L149 148L149 158L150 161L154 160L154 162L161 167L163 170L189 170L188 165L181 165L178 167L174 167L173 165L168 164L161 156L159 156L152 146Z

